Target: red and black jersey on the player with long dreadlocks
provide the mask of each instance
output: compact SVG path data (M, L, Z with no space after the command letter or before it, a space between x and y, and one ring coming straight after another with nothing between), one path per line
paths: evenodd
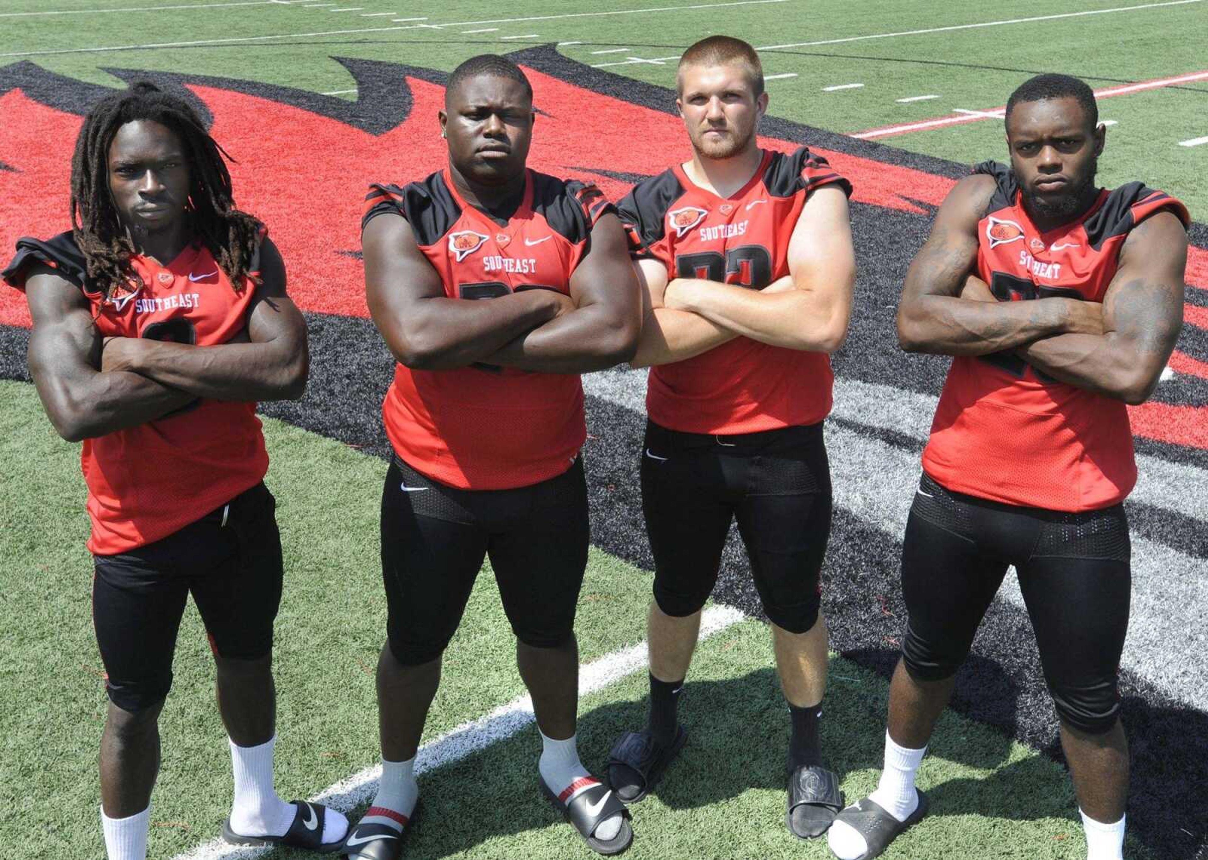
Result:
M245 327L255 294L250 279L236 292L201 245L185 248L167 266L133 257L141 286L115 287L108 300L89 287L71 233L50 242L21 239L5 280L23 290L36 262L83 290L104 337L226 343ZM259 260L251 267L257 275ZM268 454L255 403L201 400L157 420L86 438L81 466L92 521L88 548L111 556L167 538L256 486L268 471Z

